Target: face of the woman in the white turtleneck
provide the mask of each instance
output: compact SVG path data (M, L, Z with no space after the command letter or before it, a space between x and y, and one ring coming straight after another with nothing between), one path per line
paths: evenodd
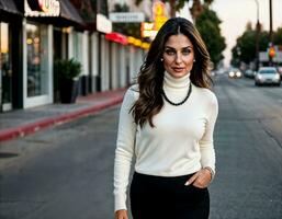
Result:
M181 78L193 67L194 48L185 35L171 35L165 44L162 57L166 71L174 78Z

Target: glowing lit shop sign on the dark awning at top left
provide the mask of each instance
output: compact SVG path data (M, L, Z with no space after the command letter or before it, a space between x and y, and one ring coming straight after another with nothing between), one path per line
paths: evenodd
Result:
M25 16L59 16L58 0L24 0Z

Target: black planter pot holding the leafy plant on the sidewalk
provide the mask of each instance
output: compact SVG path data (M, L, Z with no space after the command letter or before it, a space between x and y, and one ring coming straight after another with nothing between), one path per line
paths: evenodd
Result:
M64 79L60 80L59 93L61 103L76 103L78 96L78 80Z

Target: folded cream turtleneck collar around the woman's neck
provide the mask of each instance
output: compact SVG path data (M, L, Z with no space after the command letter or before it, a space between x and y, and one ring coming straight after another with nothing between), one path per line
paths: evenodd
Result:
M174 78L165 71L163 85L172 89L187 89L190 84L190 73L182 78Z

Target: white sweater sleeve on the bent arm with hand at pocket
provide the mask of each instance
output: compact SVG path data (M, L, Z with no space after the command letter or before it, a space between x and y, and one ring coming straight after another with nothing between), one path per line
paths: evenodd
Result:
M200 151L201 151L201 164L202 168L210 166L215 173L215 151L214 151L214 126L218 114L218 103L217 99L212 93L211 100L208 103L208 119L205 126L205 132L200 140Z

